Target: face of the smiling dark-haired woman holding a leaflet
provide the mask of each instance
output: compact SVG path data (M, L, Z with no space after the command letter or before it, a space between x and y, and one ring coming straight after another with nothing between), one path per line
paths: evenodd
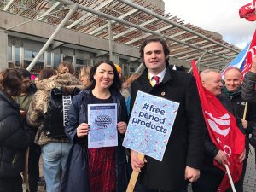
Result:
M96 68L93 78L96 81L96 87L108 89L113 84L113 68L108 63L102 63Z

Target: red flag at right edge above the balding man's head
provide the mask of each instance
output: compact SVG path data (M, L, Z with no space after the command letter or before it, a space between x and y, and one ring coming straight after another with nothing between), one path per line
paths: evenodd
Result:
M244 74L247 73L247 71L249 71L252 68L253 56L255 55L255 52L256 52L256 30L254 32L250 47L247 51L247 56L242 63L241 74L243 77L244 77Z

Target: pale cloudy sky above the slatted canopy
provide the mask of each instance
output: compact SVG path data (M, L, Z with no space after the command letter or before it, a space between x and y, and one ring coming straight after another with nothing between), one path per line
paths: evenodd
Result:
M224 41L243 49L253 38L256 21L239 17L241 6L251 0L164 0L166 13L185 23L220 33Z

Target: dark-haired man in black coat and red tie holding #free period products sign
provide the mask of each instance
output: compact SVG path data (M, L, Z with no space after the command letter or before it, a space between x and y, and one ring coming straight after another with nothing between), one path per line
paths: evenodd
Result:
M140 54L146 69L131 84L131 108L138 90L179 102L180 106L163 160L147 156L142 161L131 150L131 166L141 171L139 183L148 192L186 192L187 184L200 177L203 160L205 122L195 79L169 67L170 51L162 39L144 41Z

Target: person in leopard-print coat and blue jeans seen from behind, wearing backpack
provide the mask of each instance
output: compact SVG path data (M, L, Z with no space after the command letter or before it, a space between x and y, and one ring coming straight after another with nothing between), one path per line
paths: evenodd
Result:
M60 190L61 175L65 172L67 156L72 146L67 137L50 137L44 131L44 113L48 109L50 91L61 87L63 95L70 95L73 94L75 88L84 89L79 79L72 74L73 66L66 62L62 62L61 65L62 67L59 67L57 75L38 81L38 91L33 96L26 114L28 124L38 128L35 143L38 143L42 148L43 171L47 192L58 192ZM65 73L61 73L63 68L66 68Z

